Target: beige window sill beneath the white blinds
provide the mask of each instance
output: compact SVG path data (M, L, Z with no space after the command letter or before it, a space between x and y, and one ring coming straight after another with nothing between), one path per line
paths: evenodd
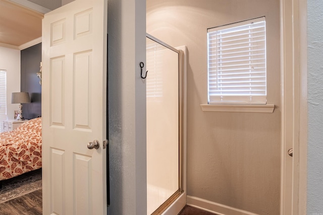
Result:
M202 104L200 106L202 111L249 113L273 113L275 108L275 105Z

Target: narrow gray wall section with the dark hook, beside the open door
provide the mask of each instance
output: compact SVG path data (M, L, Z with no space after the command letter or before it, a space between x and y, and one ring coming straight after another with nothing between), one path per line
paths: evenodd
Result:
M108 214L146 214L145 0L108 1ZM145 69L145 68L144 68Z

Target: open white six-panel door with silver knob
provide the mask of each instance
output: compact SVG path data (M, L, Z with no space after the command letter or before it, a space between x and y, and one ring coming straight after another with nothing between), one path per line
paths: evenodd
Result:
M106 15L76 0L43 19L43 214L106 214Z

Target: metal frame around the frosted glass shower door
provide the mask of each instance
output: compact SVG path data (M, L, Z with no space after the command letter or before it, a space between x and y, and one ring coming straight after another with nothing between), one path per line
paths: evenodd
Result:
M170 197L168 198L163 204L161 204L153 213L152 215L162 214L172 203L176 201L183 193L184 193L184 52L182 50L178 50L167 43L160 41L159 39L151 36L150 34L146 33L146 37L163 45L164 47L171 49L178 53L178 95L179 95L179 189Z

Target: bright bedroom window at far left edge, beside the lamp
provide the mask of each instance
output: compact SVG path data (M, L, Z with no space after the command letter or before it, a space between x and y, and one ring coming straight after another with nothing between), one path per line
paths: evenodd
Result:
M0 69L0 132L3 131L3 121L7 119L7 74Z

